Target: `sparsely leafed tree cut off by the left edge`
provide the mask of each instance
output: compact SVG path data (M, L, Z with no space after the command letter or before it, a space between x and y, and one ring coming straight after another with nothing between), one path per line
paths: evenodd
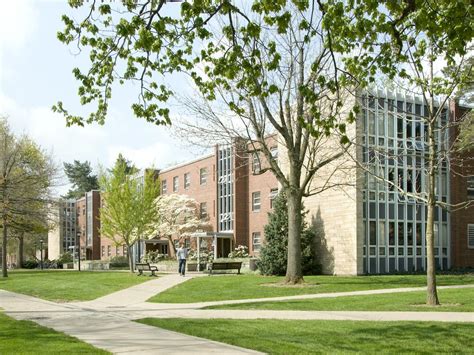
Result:
M0 120L0 218L2 275L8 276L6 256L11 229L31 230L44 223L57 177L52 158L27 136L16 137L6 119ZM43 222L41 222L43 221Z

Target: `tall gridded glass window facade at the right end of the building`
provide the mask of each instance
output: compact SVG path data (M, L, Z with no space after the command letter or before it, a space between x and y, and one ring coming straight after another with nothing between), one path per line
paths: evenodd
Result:
M412 272L426 269L428 108L414 96L389 92L361 99L364 273ZM437 124L441 146L435 191L437 199L450 200L449 173L443 149L448 143L448 110ZM449 214L435 211L437 267L450 267Z

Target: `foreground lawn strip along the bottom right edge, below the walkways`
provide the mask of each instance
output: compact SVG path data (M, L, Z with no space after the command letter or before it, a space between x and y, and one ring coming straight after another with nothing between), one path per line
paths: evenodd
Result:
M472 353L472 324L153 319L141 323L270 354Z

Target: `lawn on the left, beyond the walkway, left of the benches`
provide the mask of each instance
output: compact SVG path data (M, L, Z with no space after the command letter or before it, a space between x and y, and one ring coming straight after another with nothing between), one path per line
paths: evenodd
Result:
M150 279L113 271L14 271L0 278L0 289L55 302L88 301Z

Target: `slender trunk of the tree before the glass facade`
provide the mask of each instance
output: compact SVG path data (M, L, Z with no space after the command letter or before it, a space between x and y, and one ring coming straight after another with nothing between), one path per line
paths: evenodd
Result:
M431 115L433 115L434 105L430 103ZM434 212L435 212L435 181L436 181L436 146L434 125L436 119L430 117L428 125L428 217L426 219L426 304L430 306L439 305L438 293L436 291L436 265L434 256ZM439 233L439 230L438 230Z

